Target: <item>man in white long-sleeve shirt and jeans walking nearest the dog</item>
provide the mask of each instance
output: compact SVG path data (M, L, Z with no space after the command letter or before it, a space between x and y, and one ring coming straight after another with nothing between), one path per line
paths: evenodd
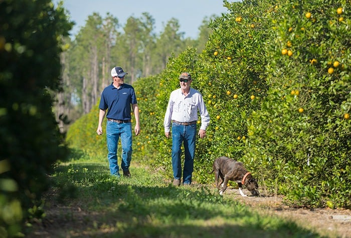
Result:
M184 72L179 76L179 81L181 88L170 93L163 121L164 134L167 138L170 137L170 125L172 125L172 168L174 186L179 186L181 184L182 143L184 143L185 150L183 184L190 185L192 183L198 111L201 117L201 127L199 130L200 138L206 136L206 128L210 123L210 115L201 93L190 87L192 83L191 75L188 72Z

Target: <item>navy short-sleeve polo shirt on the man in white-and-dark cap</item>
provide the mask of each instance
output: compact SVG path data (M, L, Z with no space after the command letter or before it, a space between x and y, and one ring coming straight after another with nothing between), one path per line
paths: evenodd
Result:
M114 120L130 120L131 104L136 104L134 88L122 84L119 89L113 86L104 88L101 94L99 108L107 111L106 117Z

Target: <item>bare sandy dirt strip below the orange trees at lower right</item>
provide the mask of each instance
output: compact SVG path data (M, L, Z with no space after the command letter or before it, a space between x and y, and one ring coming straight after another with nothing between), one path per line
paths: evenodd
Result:
M243 189L245 194L249 194ZM227 196L239 200L248 206L257 208L264 214L274 214L296 222L298 225L314 229L320 235L328 237L351 237L351 210L330 208L293 208L284 205L282 197L242 197L239 189L228 188Z

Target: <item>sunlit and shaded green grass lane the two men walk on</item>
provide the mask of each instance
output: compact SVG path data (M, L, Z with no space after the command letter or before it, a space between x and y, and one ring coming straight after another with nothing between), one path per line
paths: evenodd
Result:
M260 215L212 186L173 187L133 166L131 178L116 178L106 161L59 165L44 225L34 225L28 237L320 237L292 221Z

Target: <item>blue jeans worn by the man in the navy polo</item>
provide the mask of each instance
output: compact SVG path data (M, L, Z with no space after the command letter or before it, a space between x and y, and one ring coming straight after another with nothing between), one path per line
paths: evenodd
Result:
M117 145L118 139L121 137L122 144L122 170L128 170L131 154L132 154L132 130L131 123L117 123L107 121L106 125L106 139L108 155L107 159L110 166L110 172L112 175L120 176L119 166L117 161Z

